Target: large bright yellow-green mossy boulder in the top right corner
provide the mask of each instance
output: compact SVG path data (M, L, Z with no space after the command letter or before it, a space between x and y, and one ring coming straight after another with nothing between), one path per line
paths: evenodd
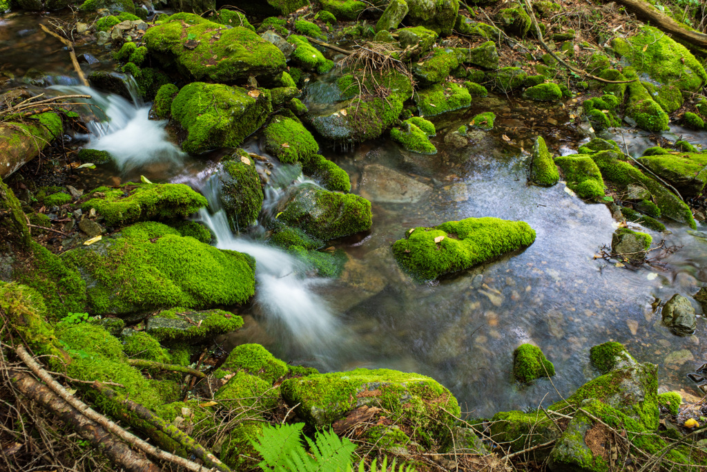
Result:
M630 38L612 40L612 47L624 60L658 83L657 101L667 113L682 106L682 91L699 91L707 73L686 47L653 26L642 26Z

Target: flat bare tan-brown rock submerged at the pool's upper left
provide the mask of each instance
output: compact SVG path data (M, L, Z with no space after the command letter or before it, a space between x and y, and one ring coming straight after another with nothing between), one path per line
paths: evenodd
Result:
M414 203L432 186L380 164L370 164L363 168L359 189L363 197L374 202Z

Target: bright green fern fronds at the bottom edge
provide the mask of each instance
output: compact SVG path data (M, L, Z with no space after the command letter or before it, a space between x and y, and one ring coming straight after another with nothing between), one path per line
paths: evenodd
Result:
M310 454L305 451L301 434L303 423L263 428L253 447L263 460L265 472L344 472L351 468L354 446L349 439L339 439L332 431L317 432L315 440L305 437Z

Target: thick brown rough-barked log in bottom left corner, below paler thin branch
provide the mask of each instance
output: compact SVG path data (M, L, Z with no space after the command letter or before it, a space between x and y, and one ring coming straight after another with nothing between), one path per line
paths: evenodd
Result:
M89 420L76 408L66 403L56 393L40 384L25 372L11 372L13 386L27 398L40 403L47 410L57 415L57 418L71 425L76 433L99 449L116 466L131 472L159 472L161 469L143 454L130 447L107 432L102 426Z

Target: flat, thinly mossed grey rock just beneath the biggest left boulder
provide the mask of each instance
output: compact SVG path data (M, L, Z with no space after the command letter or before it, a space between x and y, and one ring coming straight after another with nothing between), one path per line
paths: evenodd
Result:
M169 346L194 345L238 330L243 318L223 310L192 311L177 307L147 320L147 333Z

